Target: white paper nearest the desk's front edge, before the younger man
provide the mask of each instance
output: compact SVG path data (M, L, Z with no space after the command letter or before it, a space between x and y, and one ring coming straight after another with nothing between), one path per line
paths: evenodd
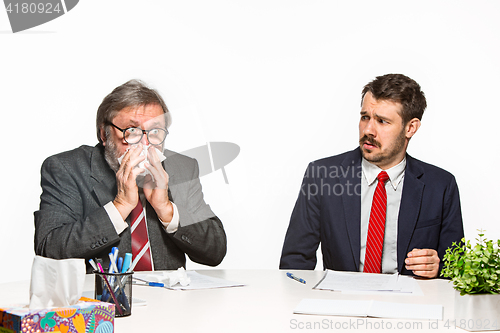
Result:
M303 299L293 313L322 316L353 316L400 319L443 319L443 306L380 301Z

